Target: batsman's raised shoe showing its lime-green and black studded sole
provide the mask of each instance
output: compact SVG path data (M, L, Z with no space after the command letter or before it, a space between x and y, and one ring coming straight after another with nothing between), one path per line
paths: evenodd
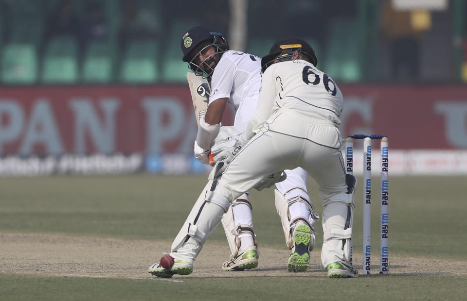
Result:
M305 272L310 265L310 251L315 245L315 235L308 225L299 225L293 232L294 247L288 258L289 272Z

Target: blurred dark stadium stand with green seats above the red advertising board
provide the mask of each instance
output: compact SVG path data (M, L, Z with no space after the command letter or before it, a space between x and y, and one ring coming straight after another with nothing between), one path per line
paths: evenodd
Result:
M277 39L295 35L311 44L318 67L339 82L397 82L391 44L382 34L383 3L249 1L247 48L239 50L263 56ZM467 81L465 1L427 3L447 5L418 13L418 26L426 27L419 75L404 81ZM202 7L181 0L0 0L0 84L184 83L181 36L206 24L229 38L228 12L228 0L206 0ZM60 28L64 14L69 23ZM67 30L74 33L66 36Z

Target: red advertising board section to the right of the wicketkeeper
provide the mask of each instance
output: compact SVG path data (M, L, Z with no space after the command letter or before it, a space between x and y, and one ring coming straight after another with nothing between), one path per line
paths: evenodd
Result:
M382 134L392 149L467 149L467 85L345 85L343 134Z

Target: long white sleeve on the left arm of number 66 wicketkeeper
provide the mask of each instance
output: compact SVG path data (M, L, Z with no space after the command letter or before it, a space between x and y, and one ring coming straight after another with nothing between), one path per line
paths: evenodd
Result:
M272 106L276 97L276 85L274 81L273 68L269 67L263 74L261 88L259 89L259 99L256 111L251 117L248 130L254 131L261 126L271 115ZM250 134L250 133L248 133Z

